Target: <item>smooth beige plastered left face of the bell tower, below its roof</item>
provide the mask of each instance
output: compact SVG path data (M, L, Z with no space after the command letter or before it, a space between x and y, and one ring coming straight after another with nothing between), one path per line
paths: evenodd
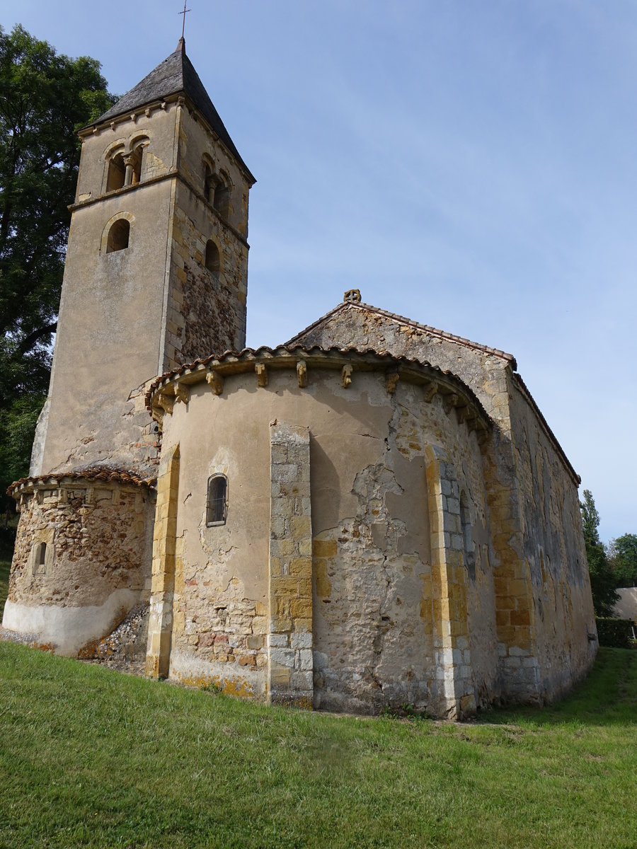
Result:
M65 279L55 339L48 413L38 425L42 451L31 475L103 463L152 474L157 445L136 388L157 374L164 311L166 250L158 219L170 219L175 110L104 127L83 139ZM148 138L163 175L105 192L108 154ZM108 252L116 216L130 224L126 250Z

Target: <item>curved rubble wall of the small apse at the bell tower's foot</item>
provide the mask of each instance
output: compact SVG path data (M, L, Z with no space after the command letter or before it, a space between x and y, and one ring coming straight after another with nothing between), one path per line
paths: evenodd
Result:
M22 490L3 627L76 655L149 598L154 498L82 479Z

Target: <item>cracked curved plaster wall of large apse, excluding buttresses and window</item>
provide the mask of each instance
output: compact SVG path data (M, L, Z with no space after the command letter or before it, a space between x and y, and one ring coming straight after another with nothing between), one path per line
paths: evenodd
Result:
M466 589L473 625L476 698L491 693L496 651L488 519L475 435L437 397L384 374L270 370L227 376L222 395L190 388L188 405L164 418L164 451L179 444L172 653L182 680L266 689L270 424L310 432L313 528L314 705L376 711L409 701L438 711L431 604L426 447L443 444L470 499L475 579ZM206 528L206 481L228 475L228 520ZM475 499L475 503L471 501ZM179 562L181 561L181 563ZM482 656L483 655L483 656ZM177 668L178 667L178 668ZM479 679L479 680L478 680Z

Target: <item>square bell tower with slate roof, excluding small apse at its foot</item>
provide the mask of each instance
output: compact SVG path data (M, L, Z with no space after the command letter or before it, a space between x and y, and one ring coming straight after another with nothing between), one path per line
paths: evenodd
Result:
M144 387L245 346L255 182L185 42L80 132L48 402L31 475L108 465L152 474Z

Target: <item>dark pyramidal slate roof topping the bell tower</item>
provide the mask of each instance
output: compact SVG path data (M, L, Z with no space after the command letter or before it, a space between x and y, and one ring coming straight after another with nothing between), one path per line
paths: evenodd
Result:
M203 115L212 130L217 133L217 136L245 168L254 182L255 178L252 177L250 169L245 165L239 151L234 147L234 142L230 138L228 130L223 126L223 121L212 104L204 84L200 81L197 71L194 70L194 65L186 55L186 42L183 38L179 39L174 53L171 53L167 59L157 65L155 70L151 70L148 76L144 76L142 82L138 82L136 86L132 87L114 106L110 107L110 110L104 112L104 115L100 115L95 123L101 124L103 121L111 121L118 115L125 115L127 112L132 112L132 110L153 103L155 100L162 100L172 94L185 94L192 100L196 109Z

